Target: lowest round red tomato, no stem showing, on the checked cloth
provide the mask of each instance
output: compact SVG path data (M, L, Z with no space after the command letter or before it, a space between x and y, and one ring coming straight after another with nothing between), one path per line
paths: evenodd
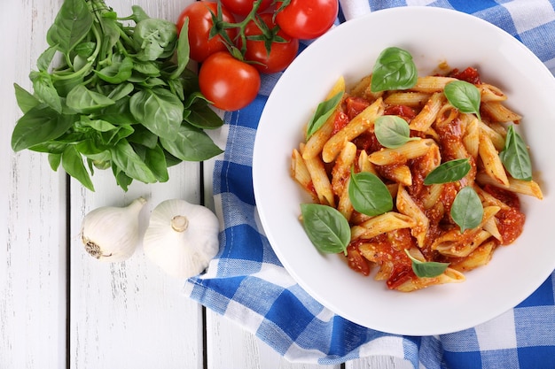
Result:
M251 104L260 89L260 73L227 51L210 55L200 66L200 92L218 109L236 111Z

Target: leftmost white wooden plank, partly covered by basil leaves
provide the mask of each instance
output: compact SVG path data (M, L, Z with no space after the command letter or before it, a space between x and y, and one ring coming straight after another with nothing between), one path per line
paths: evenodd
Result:
M21 116L12 83L31 88L28 73L46 48L42 30L56 3L0 4L1 368L62 368L66 363L65 180L51 171L45 156L14 153L10 144Z

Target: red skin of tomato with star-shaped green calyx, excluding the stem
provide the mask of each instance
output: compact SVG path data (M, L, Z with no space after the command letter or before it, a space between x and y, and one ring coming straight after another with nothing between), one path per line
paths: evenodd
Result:
M276 26L273 21L273 15L264 13L260 15L262 21L271 30ZM262 35L262 30L254 21L250 21L245 27L245 35ZM258 40L246 40L246 61L254 61L254 67L261 73L277 73L283 71L288 65L291 64L293 59L297 56L299 50L299 40L286 35L285 32L279 30L277 35L282 37L285 42L272 42L270 46L270 54L266 50L266 42ZM271 36L271 35L270 35ZM270 37L271 38L271 37ZM240 49L242 42L238 42ZM261 63L261 64L258 64Z

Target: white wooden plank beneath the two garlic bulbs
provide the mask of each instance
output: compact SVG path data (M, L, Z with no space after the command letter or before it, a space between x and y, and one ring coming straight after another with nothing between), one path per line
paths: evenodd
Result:
M192 1L192 0L190 0ZM130 3L110 0L120 16ZM134 1L151 17L175 21L187 1ZM141 212L144 232L152 208L170 198L199 202L199 164L177 165L170 181L133 183L127 193L112 173L93 177L96 192L71 181L71 315L72 368L200 368L203 361L202 319L198 304L182 294L184 281L168 277L145 258L142 246L129 260L104 264L91 258L79 240L83 216L99 206L126 205L138 196L148 203Z

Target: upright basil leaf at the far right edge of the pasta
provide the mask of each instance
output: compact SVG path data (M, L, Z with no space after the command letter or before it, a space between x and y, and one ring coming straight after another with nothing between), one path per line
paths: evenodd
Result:
M507 130L504 148L499 153L499 158L512 178L522 181L532 181L532 161L528 147L522 137L511 125Z

